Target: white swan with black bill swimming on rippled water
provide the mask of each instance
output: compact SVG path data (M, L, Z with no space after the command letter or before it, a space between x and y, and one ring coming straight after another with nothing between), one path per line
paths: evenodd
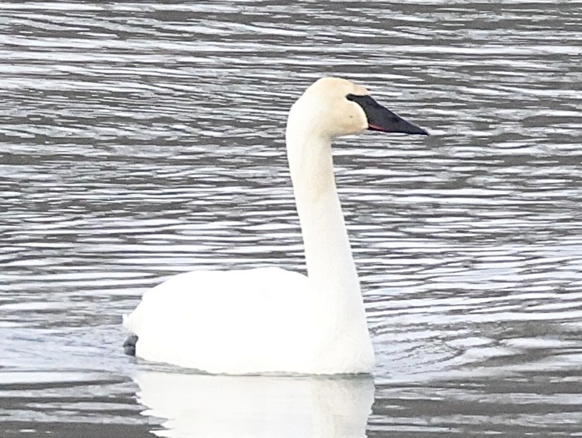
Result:
M312 83L285 136L307 276L265 267L170 277L124 315L126 352L210 374L370 374L374 350L331 148L365 129L427 135L351 81Z

